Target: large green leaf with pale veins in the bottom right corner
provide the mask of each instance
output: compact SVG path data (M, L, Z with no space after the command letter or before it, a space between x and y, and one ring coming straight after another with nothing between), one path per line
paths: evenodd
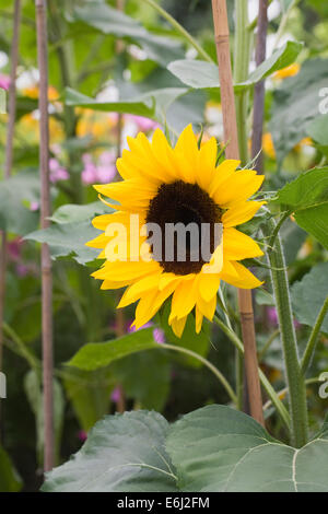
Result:
M243 412L213 405L178 420L166 448L183 491L328 491L327 429L295 449Z

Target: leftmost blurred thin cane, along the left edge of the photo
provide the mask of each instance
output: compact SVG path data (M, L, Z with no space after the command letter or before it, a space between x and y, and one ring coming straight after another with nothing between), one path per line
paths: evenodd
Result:
M7 127L5 141L5 161L4 161L4 178L9 178L12 168L13 137L16 114L16 73L19 62L19 42L20 42L20 24L21 24L21 0L15 0L13 16L13 37L11 46L10 62L10 85L9 85L9 116ZM0 372L2 371L2 352L3 352L3 315L5 301L5 268L7 268L7 235L5 231L1 231L1 257L0 257ZM1 421L1 412L0 412ZM0 424L1 427L1 424Z

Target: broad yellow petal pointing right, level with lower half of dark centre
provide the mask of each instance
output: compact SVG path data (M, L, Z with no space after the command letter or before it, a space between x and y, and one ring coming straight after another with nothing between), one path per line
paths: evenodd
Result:
M227 260L243 260L263 255L251 237L233 227L223 231L223 248Z

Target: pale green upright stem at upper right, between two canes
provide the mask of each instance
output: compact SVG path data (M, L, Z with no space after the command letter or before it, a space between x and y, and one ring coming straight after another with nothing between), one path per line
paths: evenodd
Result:
M234 48L234 83L238 84L248 79L250 56L250 33L248 31L247 0L236 0L236 30ZM238 143L241 161L245 165L248 162L247 137L247 103L248 91L235 95L236 118L238 130Z

